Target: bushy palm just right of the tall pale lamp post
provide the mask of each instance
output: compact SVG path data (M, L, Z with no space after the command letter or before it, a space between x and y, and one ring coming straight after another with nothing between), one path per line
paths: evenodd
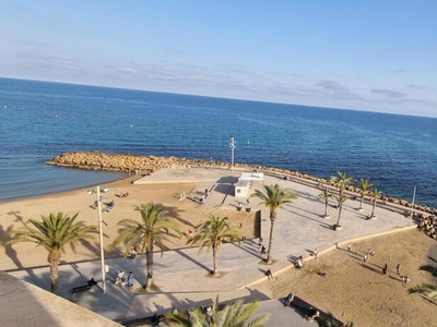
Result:
M169 241L167 235L169 231L180 234L179 225L167 217L167 211L163 206L154 203L135 206L135 211L141 214L141 221L134 219L122 219L118 221L121 227L118 237L110 244L114 249L121 243L126 243L126 255L128 252L140 244L139 253L145 252L145 262L147 266L147 279L144 289L152 287L153 279L153 247L156 245L161 250L161 256L164 252L164 241Z

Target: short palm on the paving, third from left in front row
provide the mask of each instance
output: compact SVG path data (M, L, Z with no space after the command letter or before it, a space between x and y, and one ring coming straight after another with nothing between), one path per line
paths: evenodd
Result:
M240 230L228 222L227 217L210 215L208 220L196 227L192 238L188 240L188 244L200 243L199 252L204 247L212 249L213 257L213 276L218 276L218 249L223 242L235 242L241 240Z

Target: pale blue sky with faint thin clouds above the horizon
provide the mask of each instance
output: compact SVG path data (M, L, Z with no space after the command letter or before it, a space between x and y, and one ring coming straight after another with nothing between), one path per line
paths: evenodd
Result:
M0 0L0 76L437 117L437 1Z

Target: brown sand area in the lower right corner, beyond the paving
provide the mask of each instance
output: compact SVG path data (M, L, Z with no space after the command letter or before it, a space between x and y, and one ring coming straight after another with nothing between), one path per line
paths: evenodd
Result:
M410 230L351 246L351 252L345 244L305 263L302 270L291 268L257 287L271 291L276 299L294 292L357 326L435 326L436 302L408 293L414 284L436 281L429 272L418 269L422 265L436 265L435 240ZM368 249L375 251L375 256L364 262ZM381 272L385 264L387 275ZM405 275L411 279L408 284L401 281Z

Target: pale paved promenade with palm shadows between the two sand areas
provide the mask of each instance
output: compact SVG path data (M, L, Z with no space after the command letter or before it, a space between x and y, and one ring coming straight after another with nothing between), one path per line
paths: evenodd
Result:
M188 197L199 197L205 189L211 191L204 206L236 207L236 199L228 192L232 190L233 179L229 179L229 171L191 168L191 171L208 175L212 179L199 179L199 184ZM168 178L168 173L162 172ZM180 174L180 171L175 171ZM189 172L186 172L189 174ZM234 172L237 177L238 172ZM218 177L218 178L217 178ZM199 175L197 175L199 178ZM154 175L156 179L156 175ZM188 177L188 180L191 180ZM154 180L156 182L156 180ZM179 182L181 182L179 180ZM201 252L198 249L184 249L167 251L163 257L157 253L154 256L154 284L156 289L152 292L141 290L140 283L143 283L146 275L145 257L139 256L133 261L126 258L115 258L106 261L109 266L109 272L106 275L106 292L103 293L99 286L87 292L71 294L71 287L86 283L86 280L94 277L101 280L99 262L87 262L79 264L68 264L60 266L59 275L61 281L60 295L72 302L78 303L93 312L117 322L151 316L154 313L168 312L172 307L186 310L194 305L204 305L211 303L217 295L220 301L228 301L236 298L270 300L271 294L262 293L257 290L256 282L262 280L265 269L270 268L274 274L281 269L287 269L293 265L296 256L303 255L304 258L311 259L310 253L318 249L319 255L323 251L334 247L335 243L342 243L346 240L357 239L370 234L394 231L403 227L413 226L410 219L402 215L386 210L380 207L376 209L377 219L366 220L365 217L371 211L371 206L365 204L364 213L356 208L358 201L349 201L343 207L341 225L343 228L333 231L331 226L336 221L336 209L330 207L331 219L324 219L321 215L324 213L324 202L318 198L320 190L305 184L285 181L282 179L267 177L265 183L280 183L285 187L294 190L298 199L292 204L285 205L277 215L274 226L272 256L274 263L272 266L265 266L258 251L258 239L246 240L240 245L225 244L220 250L218 267L223 272L221 278L211 278L209 269L212 267L212 253ZM260 187L261 185L255 185ZM186 201L190 201L187 198ZM240 199L246 206L246 197ZM198 206L197 202L192 202ZM269 213L263 207L257 207L257 199L250 199L252 208L260 209L262 213L261 230L264 243L267 243L270 220ZM342 245L341 245L342 246ZM343 245L344 246L344 245ZM119 270L133 271L137 283L132 291L126 288L115 287L113 280ZM11 275L49 289L49 271L47 268L26 269L11 272ZM63 286L63 287L62 287ZM279 301L263 304L269 311L281 312L282 304ZM270 305L270 306L269 306ZM277 305L277 310L272 307ZM317 305L317 303L316 303ZM290 313L286 324L290 319L303 319L293 311ZM276 319L272 319L269 326L275 325ZM303 322L306 325L306 320ZM294 325L300 326L300 325Z

